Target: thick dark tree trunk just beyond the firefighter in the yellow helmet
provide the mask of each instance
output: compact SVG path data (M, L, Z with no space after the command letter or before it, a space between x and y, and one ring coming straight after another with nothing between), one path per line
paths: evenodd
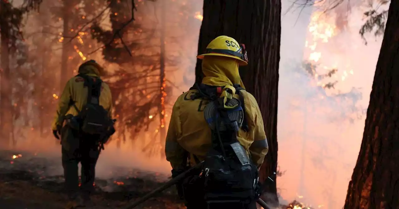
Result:
M257 99L269 143L261 168L261 179L277 172L277 92L279 81L280 0L204 0L198 54L219 35L243 43L248 66L240 68L245 88ZM201 61L197 60L196 82L201 82ZM278 204L276 182L267 182L265 200Z

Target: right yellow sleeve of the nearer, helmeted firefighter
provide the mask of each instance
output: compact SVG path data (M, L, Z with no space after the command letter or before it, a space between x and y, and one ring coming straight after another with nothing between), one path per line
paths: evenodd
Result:
M259 106L253 98L252 107L254 111L254 127L253 128L253 143L249 147L249 153L251 154L252 162L257 165L258 168L261 167L263 160L269 150L269 146L267 144L266 134L265 134L265 127L263 125L263 118L261 114L261 110Z

